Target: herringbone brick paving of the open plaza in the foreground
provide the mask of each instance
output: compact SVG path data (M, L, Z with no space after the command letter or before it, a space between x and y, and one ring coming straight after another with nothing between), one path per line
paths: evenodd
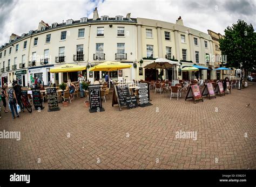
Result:
M197 104L151 92L153 106L122 112L112 96L100 113L81 98L15 120L2 111L0 131L21 131L21 140L0 139L0 168L256 169L255 93L254 83ZM177 139L180 130L197 140Z

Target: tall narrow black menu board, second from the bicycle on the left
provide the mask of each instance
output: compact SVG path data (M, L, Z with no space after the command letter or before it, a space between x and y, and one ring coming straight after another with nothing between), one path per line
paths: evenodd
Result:
M58 105L58 95L56 92L56 88L46 88L46 92L48 99L48 112L60 110Z

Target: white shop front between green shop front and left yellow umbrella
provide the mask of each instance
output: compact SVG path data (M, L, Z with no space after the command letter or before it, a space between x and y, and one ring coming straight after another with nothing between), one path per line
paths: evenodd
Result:
M51 76L52 73L50 73L51 67L53 65L29 68L29 84L32 85L32 79L36 77L44 86L48 85L50 81L54 82L54 76Z

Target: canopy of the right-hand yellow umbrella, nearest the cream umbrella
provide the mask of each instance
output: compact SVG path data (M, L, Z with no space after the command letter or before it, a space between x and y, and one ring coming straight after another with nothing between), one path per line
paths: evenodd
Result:
M130 68L131 64L121 62L103 62L89 69L89 71L116 71L119 69Z

